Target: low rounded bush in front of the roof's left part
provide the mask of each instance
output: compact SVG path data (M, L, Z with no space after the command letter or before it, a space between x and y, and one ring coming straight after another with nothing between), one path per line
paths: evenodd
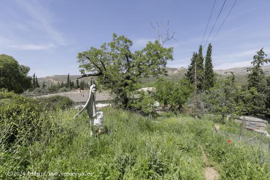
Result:
M56 109L66 109L72 107L74 102L70 100L68 97L64 96L51 96L46 98L38 98L37 101L41 103L41 105L46 110L56 110Z

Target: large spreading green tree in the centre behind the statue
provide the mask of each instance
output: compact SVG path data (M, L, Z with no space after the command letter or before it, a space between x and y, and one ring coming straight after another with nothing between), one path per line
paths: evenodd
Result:
M112 41L99 49L91 47L78 54L81 77L97 76L115 94L115 103L124 107L132 98L129 92L138 88L138 78L165 74L167 61L173 60L173 48L162 47L158 40L135 52L132 45L130 39L114 33Z

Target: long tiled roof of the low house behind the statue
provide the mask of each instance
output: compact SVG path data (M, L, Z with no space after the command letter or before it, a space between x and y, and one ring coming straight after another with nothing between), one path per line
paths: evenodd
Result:
M39 95L35 96L35 98L44 98L44 97L51 97L51 96L66 96L75 103L80 102L87 102L89 93L54 93L54 94L46 94L46 95ZM95 101L109 101L112 100L110 93L95 93Z

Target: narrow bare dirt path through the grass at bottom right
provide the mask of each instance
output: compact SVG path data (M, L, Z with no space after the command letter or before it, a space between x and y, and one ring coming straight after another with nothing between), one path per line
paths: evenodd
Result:
M219 174L218 172L212 168L208 162L207 155L204 153L202 146L200 146L202 150L202 158L205 164L205 169L204 169L204 177L206 180L218 180L219 179Z

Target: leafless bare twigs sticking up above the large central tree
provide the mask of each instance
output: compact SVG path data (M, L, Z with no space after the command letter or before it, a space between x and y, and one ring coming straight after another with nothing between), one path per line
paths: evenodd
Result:
M162 36L162 33L160 32L160 30L161 30L161 28L163 26L162 22L160 22L160 23L156 22L156 24L157 24L157 27L154 26L152 23L151 23L151 26L154 29L154 31L157 32L157 35L158 35L157 40L161 43L162 46L163 46L163 44L165 42L167 42L167 41L169 41L171 39L174 39L175 41L177 41L174 38L174 35L176 33L176 30L173 31L172 35L170 35L169 20L167 21L167 27L166 27L166 30L165 30L165 33L164 33L164 38Z

